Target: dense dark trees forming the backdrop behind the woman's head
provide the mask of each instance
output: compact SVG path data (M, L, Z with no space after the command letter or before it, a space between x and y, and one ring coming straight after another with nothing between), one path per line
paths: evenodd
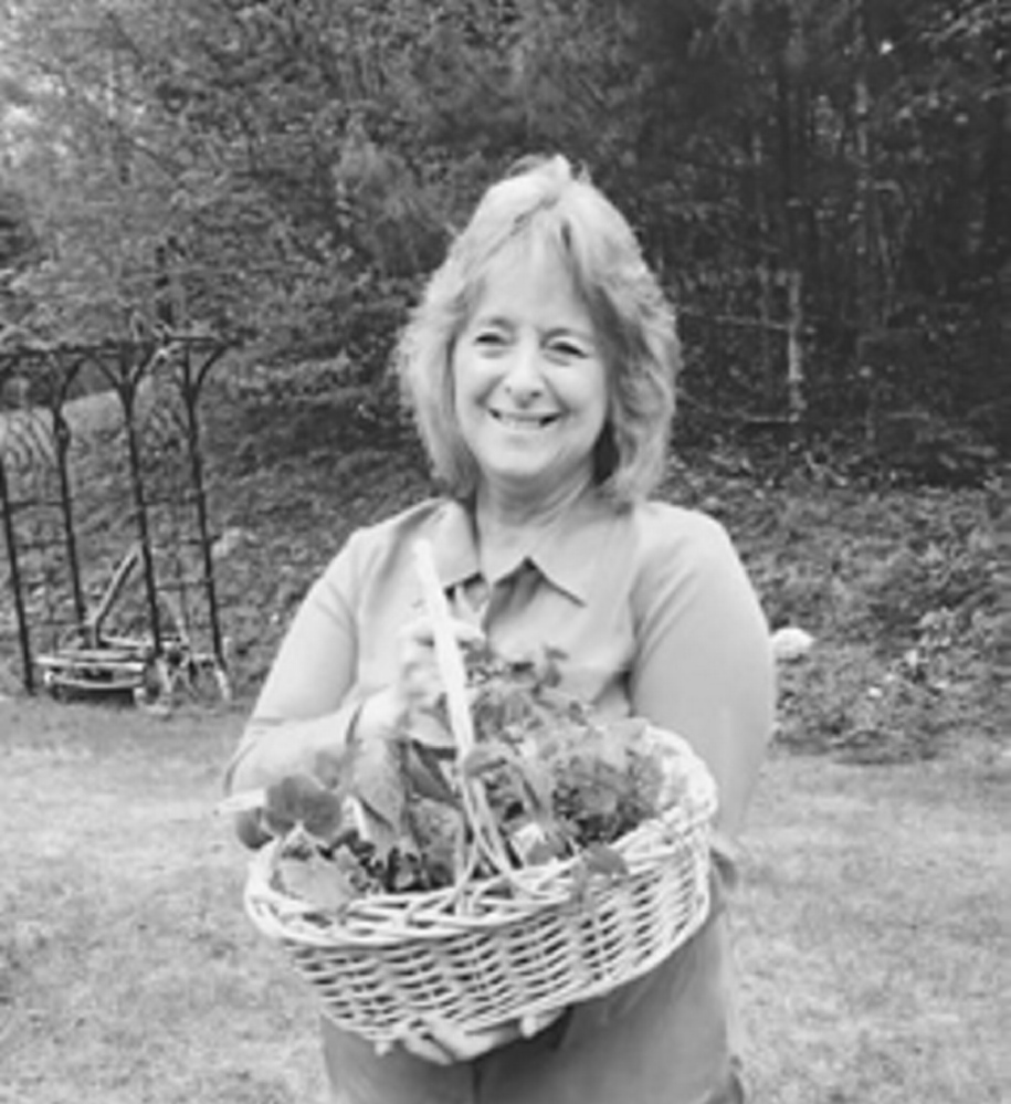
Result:
M6 339L202 327L271 370L337 358L394 425L420 275L515 157L562 150L680 304L684 434L971 482L1011 424L1009 24L998 0L6 0Z

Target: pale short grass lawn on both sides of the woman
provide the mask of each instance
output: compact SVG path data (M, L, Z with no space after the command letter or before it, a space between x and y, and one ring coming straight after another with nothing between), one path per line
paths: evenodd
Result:
M241 723L0 702L4 1104L323 1104L213 814ZM1009 787L1007 757L772 756L735 922L757 1101L1011 1098Z

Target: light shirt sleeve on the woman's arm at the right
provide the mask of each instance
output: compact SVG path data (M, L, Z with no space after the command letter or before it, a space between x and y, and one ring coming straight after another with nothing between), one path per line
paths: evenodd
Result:
M636 714L688 740L719 793L717 827L741 829L772 732L775 671L768 624L726 530L670 514L647 540L636 580Z

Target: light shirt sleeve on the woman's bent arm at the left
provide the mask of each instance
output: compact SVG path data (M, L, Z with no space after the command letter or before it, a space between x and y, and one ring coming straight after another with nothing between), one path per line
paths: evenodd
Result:
M225 770L225 789L253 789L295 771L320 772L322 757L338 756L357 715L358 571L352 536L313 583L289 625ZM246 842L251 824L239 824Z

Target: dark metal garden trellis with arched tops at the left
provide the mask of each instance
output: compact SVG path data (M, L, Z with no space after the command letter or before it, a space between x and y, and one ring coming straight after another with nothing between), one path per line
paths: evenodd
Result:
M19 522L32 511L55 511L59 538L36 544L36 553L60 549L65 566L65 583L76 627L87 622L87 602L82 581L80 525L75 514L74 476L70 451L74 438L71 411L75 386L81 391L91 374L92 388L105 390L118 400L123 448L128 467L131 547L141 568L146 634L145 664L160 664L167 645L173 642L162 624L162 601L169 589L159 580L151 528L152 502L149 479L145 474L146 429L140 418L140 396L145 386L168 385L162 395L181 403L181 416L173 431L182 439L187 498L192 506L191 522L196 536L190 540L199 551L196 582L203 596L204 621L210 637L210 652L204 659L213 664L219 683L227 686L224 643L214 580L213 533L208 507L206 463L201 439L199 401L211 368L228 350L228 343L207 335L167 333L160 339L104 341L89 345L21 345L0 349L0 391L22 383L27 402L20 409L0 412L0 507L10 575L10 590L21 658L22 682L32 693L36 688L39 655L33 649L33 610L30 598L48 593L51 580L25 575L22 553L30 543ZM157 461L157 456L155 460ZM25 473L50 467L56 476L55 501L24 494L31 483ZM177 507L179 503L175 504ZM178 659L178 655L176 656Z

